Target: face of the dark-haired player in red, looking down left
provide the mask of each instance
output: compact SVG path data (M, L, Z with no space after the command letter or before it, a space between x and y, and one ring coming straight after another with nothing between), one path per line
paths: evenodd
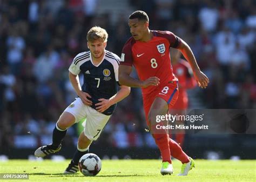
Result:
M147 32L149 23L139 21L138 18L129 19L130 32L136 41L143 39L144 33Z

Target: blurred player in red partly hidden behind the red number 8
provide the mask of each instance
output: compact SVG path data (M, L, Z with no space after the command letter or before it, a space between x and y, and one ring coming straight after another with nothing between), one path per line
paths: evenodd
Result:
M188 107L187 89L192 89L196 86L196 80L193 77L191 66L186 60L181 59L181 52L177 49L171 51L171 63L174 75L179 79L179 97L177 102L171 107L173 109L172 114L185 114ZM180 121L180 124L184 124L184 121ZM170 133L169 133L170 134ZM172 134L173 136L173 134ZM175 140L182 147L185 137L185 131L176 131Z

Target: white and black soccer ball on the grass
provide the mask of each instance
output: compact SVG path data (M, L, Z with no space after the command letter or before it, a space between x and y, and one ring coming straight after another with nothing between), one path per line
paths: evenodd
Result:
M79 159L79 171L84 176L96 176L102 169L102 161L94 153L86 153Z

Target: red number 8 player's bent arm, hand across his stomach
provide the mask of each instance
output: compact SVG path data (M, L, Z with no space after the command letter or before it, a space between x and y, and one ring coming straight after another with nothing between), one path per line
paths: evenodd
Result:
M157 86L159 84L159 78L150 77L144 81L132 78L130 73L132 72L132 66L119 65L118 79L121 85L126 85L130 87L147 87L150 85Z

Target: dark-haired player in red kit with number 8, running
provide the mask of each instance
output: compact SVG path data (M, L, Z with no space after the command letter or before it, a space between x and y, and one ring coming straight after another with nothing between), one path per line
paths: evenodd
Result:
M169 138L167 131L158 133L156 118L165 115L179 95L178 79L173 75L169 48L179 49L190 63L194 77L201 88L209 80L200 71L190 47L170 31L149 29L149 17L144 11L135 11L129 17L132 37L125 43L119 66L119 83L130 87L142 87L143 105L147 125L156 141L163 160L161 174L172 174L171 155L183 163L179 176L186 176L194 166L192 158L179 144ZM139 80L130 77L132 65Z

